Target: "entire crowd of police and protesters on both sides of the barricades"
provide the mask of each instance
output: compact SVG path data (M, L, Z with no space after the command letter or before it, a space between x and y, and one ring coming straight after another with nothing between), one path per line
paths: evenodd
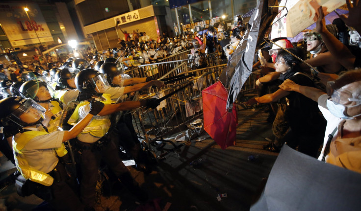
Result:
M349 16L340 20L361 34L361 3L346 2ZM350 47L345 39L342 43L337 33L330 32L335 30L325 24L322 7L317 18L315 30L304 35L306 48L294 47L286 38L259 47L254 64L262 75L256 82L259 96L242 105L270 105L275 140L264 146L266 150L279 152L286 143L361 173L360 48ZM157 41L144 32L135 36L133 31L131 38L124 31L127 42L119 40L119 47L109 48L106 59L94 51L86 58L70 57L46 67L2 64L1 151L19 171L16 180L23 181L17 183L19 189L26 181L35 187L19 194L35 194L55 210L94 210L98 170L105 163L138 200L146 201L147 192L123 164L119 146L139 171L149 172L152 160L144 154L131 114L120 112L142 106L155 109L157 99L132 100L132 93L165 85L152 77L131 78L123 71L183 50L194 55L196 68L207 66L207 54L222 54L227 61L247 27L241 21L232 30L223 31L221 26ZM77 102L72 109L66 106L70 102ZM76 175L68 166L69 140L79 169ZM72 178L79 181L79 191Z

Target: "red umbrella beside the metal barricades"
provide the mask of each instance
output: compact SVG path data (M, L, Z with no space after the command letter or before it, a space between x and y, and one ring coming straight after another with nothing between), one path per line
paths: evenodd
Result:
M222 149L233 146L236 139L237 111L226 109L228 93L223 84L217 83L202 91L204 129Z

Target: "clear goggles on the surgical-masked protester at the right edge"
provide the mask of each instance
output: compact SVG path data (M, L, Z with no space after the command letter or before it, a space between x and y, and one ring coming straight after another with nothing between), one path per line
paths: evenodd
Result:
M335 81L327 82L326 91L335 104L346 104L350 101L361 104L361 99L354 98L351 90L347 88L335 89Z

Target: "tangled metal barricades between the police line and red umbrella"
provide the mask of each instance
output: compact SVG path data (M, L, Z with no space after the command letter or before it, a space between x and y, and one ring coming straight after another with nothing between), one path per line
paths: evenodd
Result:
M162 140L174 131L182 130L182 127L194 119L201 117L203 115L202 90L217 82L224 66L181 72L180 74L184 75L196 72L197 76L184 79L164 90L155 92L153 95L162 97L184 87L183 90L162 101L157 109L152 111L144 108L137 109L134 119L138 135L144 137L148 143Z

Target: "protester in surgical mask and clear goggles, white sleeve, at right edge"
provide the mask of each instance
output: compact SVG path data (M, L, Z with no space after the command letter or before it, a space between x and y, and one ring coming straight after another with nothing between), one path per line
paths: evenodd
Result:
M327 94L291 80L285 80L280 88L316 101L326 118L318 160L361 173L361 70L347 71L335 81L329 81Z

